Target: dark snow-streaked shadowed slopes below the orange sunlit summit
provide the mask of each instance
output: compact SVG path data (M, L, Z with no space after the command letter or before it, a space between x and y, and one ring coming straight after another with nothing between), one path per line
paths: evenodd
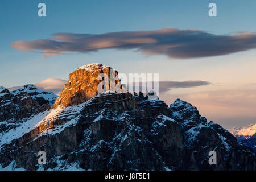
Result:
M185 101L168 107L130 93L98 94L48 115L50 129L46 120L41 131L2 146L0 163L36 170L43 150L43 169L255 170L253 150ZM217 165L209 165L209 151L217 152Z

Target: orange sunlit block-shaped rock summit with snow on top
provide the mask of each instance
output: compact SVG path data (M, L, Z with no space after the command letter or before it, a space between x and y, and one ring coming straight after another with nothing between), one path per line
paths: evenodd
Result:
M69 74L68 83L65 84L53 108L67 107L88 101L99 93L99 89L114 91L115 86L121 84L117 74L113 68L98 63L84 65L76 69ZM102 81L106 83L104 86L101 85Z

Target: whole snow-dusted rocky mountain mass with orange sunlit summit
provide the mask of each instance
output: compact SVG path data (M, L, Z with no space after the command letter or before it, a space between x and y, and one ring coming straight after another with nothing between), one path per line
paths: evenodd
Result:
M99 73L117 75L110 69L80 67L57 100L32 85L1 87L0 169L256 170L254 150L188 102L168 106L142 93L99 93ZM46 164L38 163L39 151ZM217 164L209 164L210 151Z

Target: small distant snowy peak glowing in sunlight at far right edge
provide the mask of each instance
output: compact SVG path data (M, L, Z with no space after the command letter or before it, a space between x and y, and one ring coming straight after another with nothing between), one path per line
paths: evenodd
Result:
M228 129L230 133L236 136L238 139L249 139L256 133L256 124L250 124L243 127L233 127L233 129Z

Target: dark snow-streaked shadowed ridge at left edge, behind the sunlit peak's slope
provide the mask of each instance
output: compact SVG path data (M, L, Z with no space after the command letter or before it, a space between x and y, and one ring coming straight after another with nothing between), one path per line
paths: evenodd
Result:
M51 92L38 90L34 85L24 85L9 92L0 88L0 122L19 122L31 115L51 109L57 96Z

